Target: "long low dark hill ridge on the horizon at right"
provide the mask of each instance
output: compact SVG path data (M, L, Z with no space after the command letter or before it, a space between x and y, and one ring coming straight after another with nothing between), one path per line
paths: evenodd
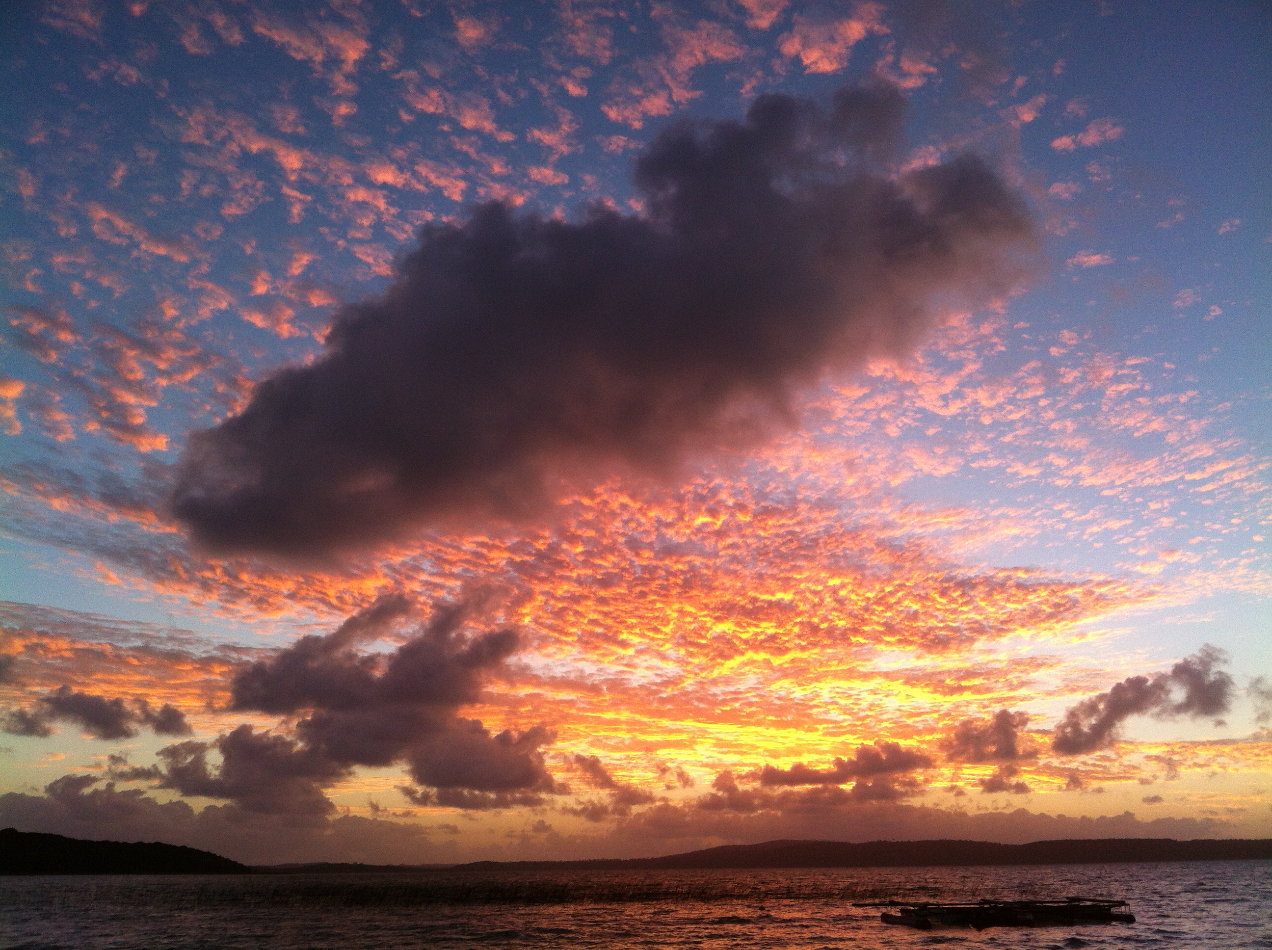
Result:
M725 844L665 857L595 861L477 861L457 870L674 870L711 867L922 867L1085 865L1127 861L1241 861L1272 858L1272 839L1174 841L1095 838L997 844L987 841L767 841Z

